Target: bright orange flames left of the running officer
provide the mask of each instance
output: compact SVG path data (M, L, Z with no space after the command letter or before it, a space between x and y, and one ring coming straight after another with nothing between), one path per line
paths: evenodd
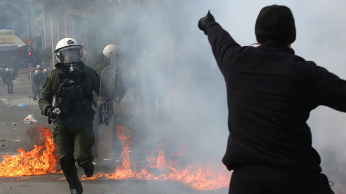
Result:
M38 145L26 152L23 148L17 149L18 154L3 156L0 162L0 176L27 176L55 173L59 156L55 152L52 133L49 128L35 128L40 134ZM44 144L42 142L44 140Z

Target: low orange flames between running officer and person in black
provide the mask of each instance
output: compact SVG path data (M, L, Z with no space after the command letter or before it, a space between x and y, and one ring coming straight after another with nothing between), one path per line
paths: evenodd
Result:
M204 166L200 163L194 163L183 169L180 169L175 162L166 160L165 153L162 150L164 144L157 147L157 158L154 156L149 157L148 165L142 167L137 171L137 164L132 165L131 168L129 147L132 143L131 137L125 136L125 127L117 126L117 136L121 140L123 146L122 152L122 166L117 166L116 171L112 173L99 172L93 177L85 179L138 179L138 180L171 180L181 181L189 187L196 190L218 190L226 187L229 184L230 175L225 169L216 168L214 164L209 163ZM170 155L182 155L183 151L179 151ZM155 172L160 172L155 174Z

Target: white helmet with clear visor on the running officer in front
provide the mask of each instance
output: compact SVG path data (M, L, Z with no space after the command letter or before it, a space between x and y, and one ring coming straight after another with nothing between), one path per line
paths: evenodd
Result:
M54 53L59 63L80 62L83 57L83 47L73 38L64 38L56 44Z

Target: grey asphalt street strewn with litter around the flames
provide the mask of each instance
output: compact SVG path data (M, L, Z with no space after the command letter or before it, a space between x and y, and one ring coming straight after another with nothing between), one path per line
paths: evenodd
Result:
M18 148L31 151L37 141L33 134L33 127L41 125L49 127L47 117L41 115L37 101L30 97L30 82L27 69L18 71L19 77L14 82L15 94L8 94L4 84L0 89L0 155L17 154ZM26 107L18 107L24 105ZM36 124L24 124L23 119L28 115L33 115L37 120ZM95 158L95 172L114 172L119 162L118 153L111 153L110 160ZM13 169L16 170L16 169ZM79 168L79 175L83 170ZM21 177L0 177L0 193L69 193L66 180L61 173L21 176ZM199 191L184 185L182 182L159 181L159 180L82 180L83 193L215 193L215 191ZM226 193L227 188L223 187L217 193Z

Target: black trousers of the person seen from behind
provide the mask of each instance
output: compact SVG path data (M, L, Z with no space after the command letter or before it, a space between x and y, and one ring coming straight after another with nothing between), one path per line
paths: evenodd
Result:
M270 166L234 170L229 194L334 194L324 174L305 174Z

